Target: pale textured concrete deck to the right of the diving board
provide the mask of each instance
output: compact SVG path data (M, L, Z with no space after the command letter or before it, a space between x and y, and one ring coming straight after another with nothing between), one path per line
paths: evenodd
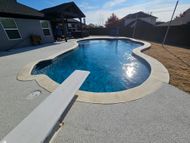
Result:
M53 143L189 143L190 95L163 84L136 101L75 102Z

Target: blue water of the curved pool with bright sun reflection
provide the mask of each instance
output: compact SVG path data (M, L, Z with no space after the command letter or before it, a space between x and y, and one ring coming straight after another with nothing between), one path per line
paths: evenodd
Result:
M87 70L90 75L80 90L115 92L143 83L150 74L149 65L132 55L141 46L129 40L85 40L79 47L52 61L40 62L32 74L46 74L62 83L74 70Z

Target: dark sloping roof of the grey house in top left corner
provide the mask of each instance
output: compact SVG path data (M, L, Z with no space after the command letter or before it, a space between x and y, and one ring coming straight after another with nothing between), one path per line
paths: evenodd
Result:
M16 0L0 0L0 14L1 16L17 15L29 17L44 17L43 13L30 8L26 5L16 2Z

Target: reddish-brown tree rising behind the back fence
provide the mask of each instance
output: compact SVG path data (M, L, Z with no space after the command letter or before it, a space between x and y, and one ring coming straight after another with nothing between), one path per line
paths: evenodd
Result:
M112 15L107 19L105 26L107 28L113 28L116 27L119 23L119 18L112 13Z

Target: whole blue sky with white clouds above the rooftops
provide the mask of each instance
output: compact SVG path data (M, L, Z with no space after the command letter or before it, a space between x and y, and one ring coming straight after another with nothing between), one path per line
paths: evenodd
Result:
M122 18L130 13L144 11L158 17L159 21L168 21L176 0L73 0L86 15L87 23L103 25L106 19L115 13ZM69 0L18 0L18 2L41 10ZM190 0L179 0L176 15L190 8Z

